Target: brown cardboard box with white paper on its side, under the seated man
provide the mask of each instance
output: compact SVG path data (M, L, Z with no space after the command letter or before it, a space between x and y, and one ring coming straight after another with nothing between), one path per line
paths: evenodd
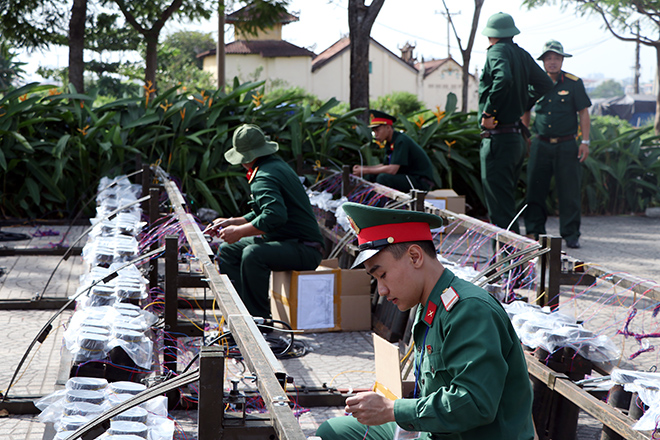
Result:
M306 332L370 330L370 279L364 269L339 269L336 260L317 270L273 272L273 319Z

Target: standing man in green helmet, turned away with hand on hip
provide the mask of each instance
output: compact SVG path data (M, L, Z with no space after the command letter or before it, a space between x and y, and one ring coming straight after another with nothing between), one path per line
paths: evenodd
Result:
M536 61L512 40L520 31L509 14L488 19L482 34L490 47L479 80L481 180L491 223L519 232L515 192L522 170L527 130L520 118L552 81Z

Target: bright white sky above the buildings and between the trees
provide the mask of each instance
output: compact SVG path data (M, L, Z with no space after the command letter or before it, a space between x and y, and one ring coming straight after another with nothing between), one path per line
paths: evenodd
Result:
M474 3L466 0L445 0L456 25L462 44L467 39L472 21ZM283 38L293 44L320 53L342 36L348 35L348 0L291 0L289 11L300 20L283 28ZM635 44L617 40L604 29L600 17L581 17L572 7L544 6L527 10L520 0L486 0L481 11L479 26L472 51L470 71L481 70L486 55L487 39L481 35L488 17L496 12L513 16L521 33L514 42L526 49L534 58L541 54L543 44L549 39L559 40L564 52L572 58L564 60L564 70L583 78L613 78L624 80L633 76ZM406 42L416 46L418 60L445 58L447 56L447 20L441 0L385 0L371 36L397 55ZM166 31L187 29L211 32L215 19L210 23L171 23ZM214 35L217 35L217 30ZM226 31L227 41L232 38L231 27ZM450 30L449 53L462 64L462 57L454 33ZM126 58L126 55L123 55ZM68 49L58 48L46 53L21 53L19 60L28 62L25 70L30 79L37 79L33 72L39 65L64 67L68 63ZM86 54L86 59L89 55ZM642 46L641 82L652 82L655 75L655 51Z

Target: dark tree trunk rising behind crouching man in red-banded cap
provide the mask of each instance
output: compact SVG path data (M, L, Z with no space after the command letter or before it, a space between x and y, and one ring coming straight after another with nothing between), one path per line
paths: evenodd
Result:
M373 0L370 6L364 0L349 0L348 27L351 40L350 107L365 108L359 116L369 119L369 42L371 27L385 0Z

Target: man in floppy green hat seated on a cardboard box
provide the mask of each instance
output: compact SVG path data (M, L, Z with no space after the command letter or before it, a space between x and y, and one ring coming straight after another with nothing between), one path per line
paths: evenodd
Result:
M205 232L217 235L220 272L227 274L252 316L270 318L268 285L273 270L314 270L323 237L309 197L293 169L278 157L256 125L234 132L225 159L248 170L252 211L218 218Z

